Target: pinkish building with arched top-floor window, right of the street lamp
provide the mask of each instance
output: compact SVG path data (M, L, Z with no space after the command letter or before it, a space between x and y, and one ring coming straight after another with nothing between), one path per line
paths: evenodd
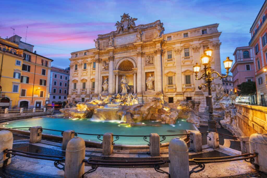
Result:
M230 70L233 73L233 91L239 95L237 85L247 81L255 81L253 49L250 46L237 47L233 56L234 64Z

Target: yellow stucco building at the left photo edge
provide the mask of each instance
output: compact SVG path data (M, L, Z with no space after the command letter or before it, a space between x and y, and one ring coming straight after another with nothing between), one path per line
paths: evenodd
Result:
M0 38L0 108L17 107L20 91L23 50Z

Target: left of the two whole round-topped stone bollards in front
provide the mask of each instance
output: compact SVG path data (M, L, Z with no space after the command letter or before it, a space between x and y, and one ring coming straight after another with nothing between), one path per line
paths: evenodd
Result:
M85 142L80 137L71 139L66 148L65 178L80 178L84 174Z

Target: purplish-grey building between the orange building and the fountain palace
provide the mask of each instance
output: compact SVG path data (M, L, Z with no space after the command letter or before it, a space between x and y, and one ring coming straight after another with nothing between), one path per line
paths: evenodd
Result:
M62 69L51 67L49 104L55 107L64 106L69 93L69 67Z

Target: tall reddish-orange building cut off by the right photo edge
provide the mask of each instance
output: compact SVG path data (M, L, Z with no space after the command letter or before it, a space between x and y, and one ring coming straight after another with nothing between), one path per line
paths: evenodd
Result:
M256 19L254 20L250 34L249 46L252 47L255 68L257 103L267 105L267 1L262 5Z

